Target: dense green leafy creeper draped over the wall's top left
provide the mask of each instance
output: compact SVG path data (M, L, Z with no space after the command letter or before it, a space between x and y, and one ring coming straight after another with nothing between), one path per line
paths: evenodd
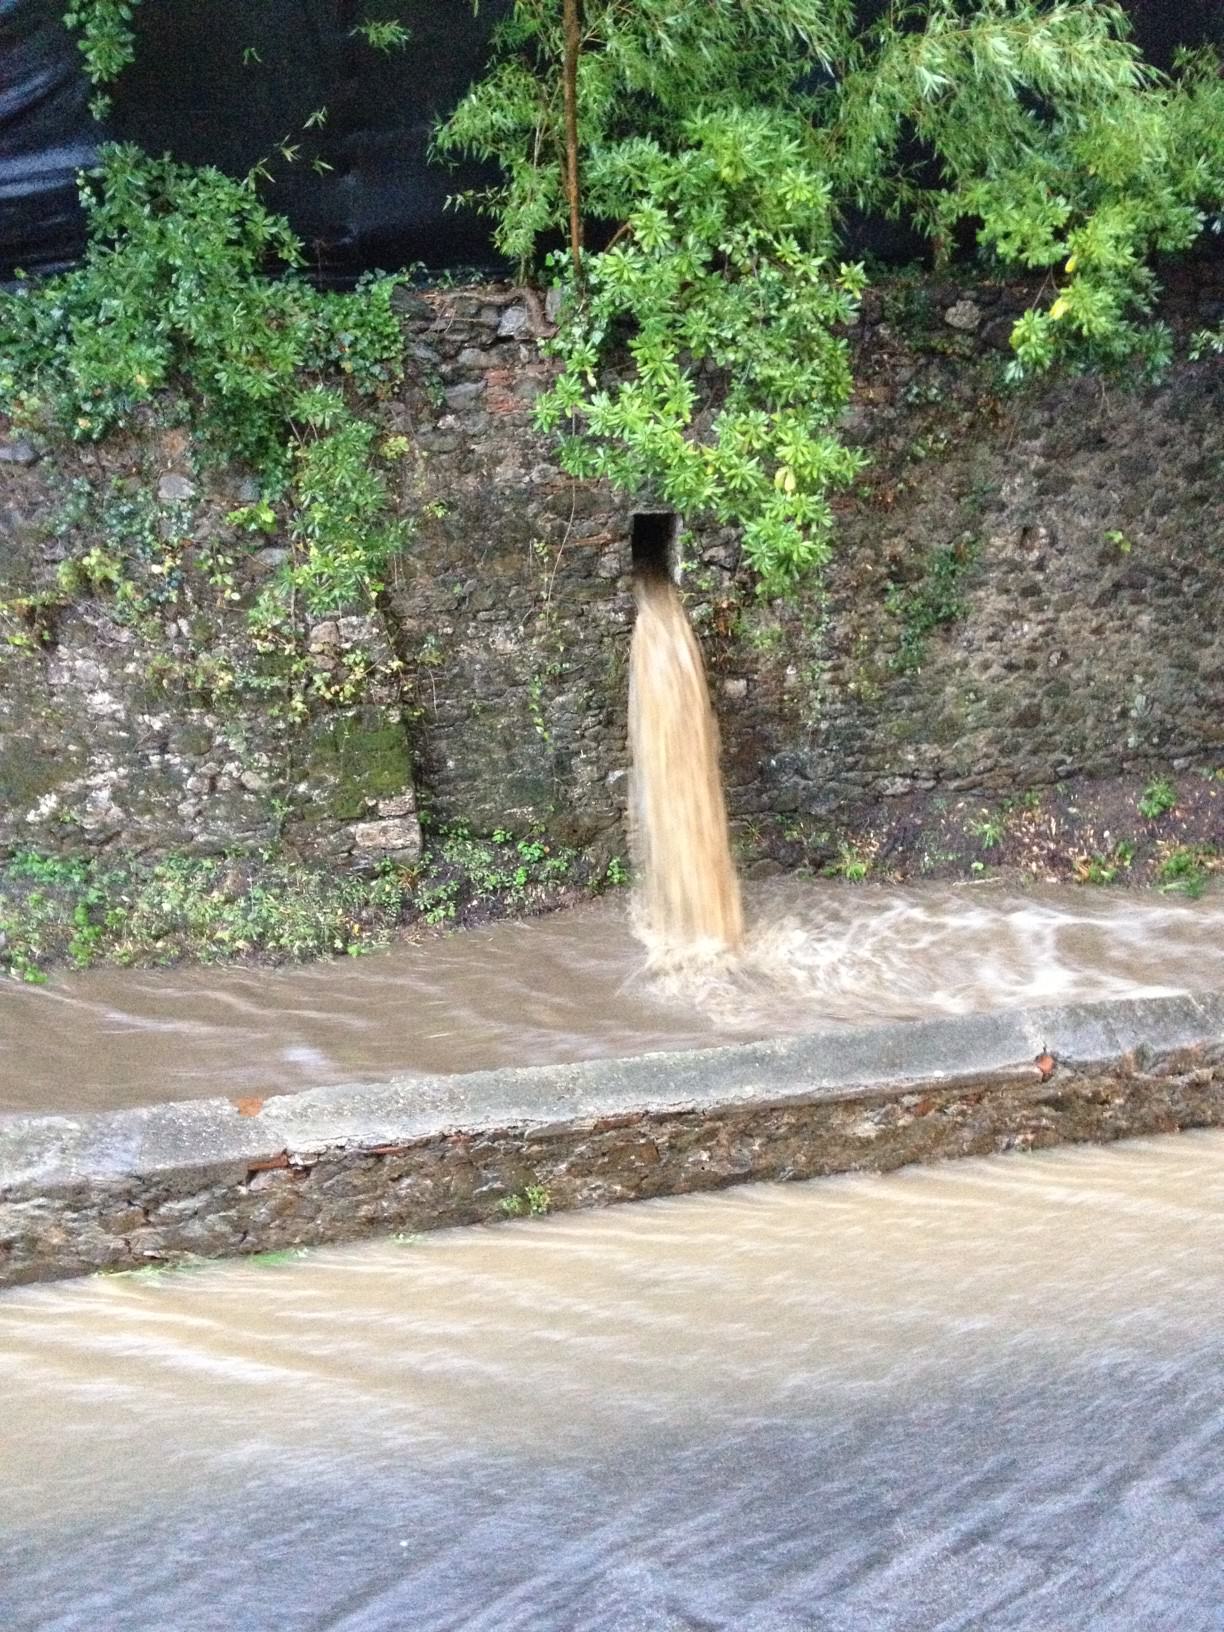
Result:
M85 261L0 294L0 395L24 423L98 441L180 393L206 457L259 472L263 499L235 522L269 530L284 511L292 560L259 628L290 602L322 614L369 599L405 542L377 428L357 411L400 377L395 281L317 292L248 181L134 147L106 149L82 196Z

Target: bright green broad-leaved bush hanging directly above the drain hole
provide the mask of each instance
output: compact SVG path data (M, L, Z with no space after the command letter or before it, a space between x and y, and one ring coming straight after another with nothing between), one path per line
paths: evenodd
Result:
M643 139L601 165L609 189L635 189L628 230L589 264L537 423L566 426L576 477L738 522L777 591L827 558L827 494L863 465L834 429L850 397L834 328L854 317L862 269L829 263L827 196L783 114L702 114L681 139L679 153ZM601 380L612 335L632 369Z

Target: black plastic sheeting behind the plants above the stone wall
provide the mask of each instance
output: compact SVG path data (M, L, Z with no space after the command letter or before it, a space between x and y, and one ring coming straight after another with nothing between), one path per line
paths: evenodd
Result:
M51 271L83 243L77 171L108 137L243 175L266 163L268 202L302 237L315 274L349 282L369 268L493 264L488 224L447 197L486 180L431 162L436 119L480 75L511 0L140 0L134 64L113 86L106 129L65 0L0 0L0 277ZM863 0L867 18L880 0ZM1224 36L1221 0L1131 0L1136 41L1167 67L1177 44ZM395 18L411 41L380 54L357 23ZM323 122L308 129L318 109ZM297 147L287 160L281 147ZM857 250L906 258L916 243L885 222Z

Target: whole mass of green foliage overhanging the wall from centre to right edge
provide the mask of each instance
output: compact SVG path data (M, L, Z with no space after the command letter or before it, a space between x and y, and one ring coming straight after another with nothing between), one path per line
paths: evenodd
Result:
M994 268L1061 268L1013 379L1159 369L1149 263L1217 224L1224 82L1211 54L1155 73L1126 29L1105 0L929 0L867 28L844 0L588 0L579 175L610 242L581 279L550 258L561 375L539 411L565 467L741 526L765 589L819 565L860 468L836 434L852 207L907 217L937 258L968 227ZM437 134L499 163L467 202L524 269L566 230L561 62L561 7L517 0Z

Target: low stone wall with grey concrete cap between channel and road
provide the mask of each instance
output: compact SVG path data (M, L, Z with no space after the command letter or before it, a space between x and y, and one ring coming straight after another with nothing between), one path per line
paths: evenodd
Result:
M0 1118L0 1286L1224 1124L1224 996Z

